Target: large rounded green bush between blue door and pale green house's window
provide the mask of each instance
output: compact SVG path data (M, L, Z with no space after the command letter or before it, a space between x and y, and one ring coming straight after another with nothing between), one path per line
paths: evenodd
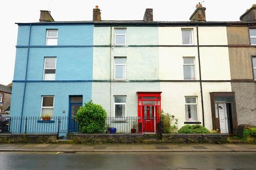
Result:
M106 128L107 112L92 100L77 111L78 130L82 133L102 133Z

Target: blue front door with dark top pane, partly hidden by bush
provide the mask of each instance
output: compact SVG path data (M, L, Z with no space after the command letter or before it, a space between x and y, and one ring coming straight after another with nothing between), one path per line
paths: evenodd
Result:
M76 113L80 106L83 105L82 96L70 96L69 98L69 116L68 116L68 132L77 132L78 123L76 121Z

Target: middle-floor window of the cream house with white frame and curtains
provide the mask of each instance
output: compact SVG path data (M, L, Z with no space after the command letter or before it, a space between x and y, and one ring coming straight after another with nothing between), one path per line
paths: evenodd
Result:
M183 74L185 80L195 80L195 58L183 57Z

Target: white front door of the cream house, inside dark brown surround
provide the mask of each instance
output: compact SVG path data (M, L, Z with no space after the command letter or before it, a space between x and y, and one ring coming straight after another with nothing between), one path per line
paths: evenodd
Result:
M219 114L219 122L220 122L220 133L228 133L227 103L217 103L217 105L218 105L218 114ZM220 107L223 107L224 115L220 115ZM223 118L224 120L221 119L221 117L223 116L224 116Z

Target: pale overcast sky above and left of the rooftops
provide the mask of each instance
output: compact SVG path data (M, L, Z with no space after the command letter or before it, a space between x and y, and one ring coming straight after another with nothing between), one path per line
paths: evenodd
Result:
M153 8L154 21L189 21L198 0L1 0L0 84L13 80L18 25L38 22L39 10L50 10L55 21L92 20L98 5L102 20L142 20L146 8ZM205 0L207 21L239 21L253 0ZM25 58L24 58L25 59Z

